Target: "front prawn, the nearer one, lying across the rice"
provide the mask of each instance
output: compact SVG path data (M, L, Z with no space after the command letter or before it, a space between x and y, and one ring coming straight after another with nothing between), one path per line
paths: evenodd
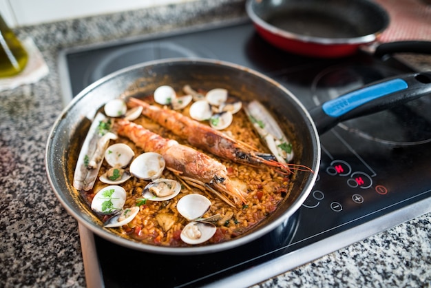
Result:
M156 152L165 158L166 167L194 187L204 187L217 194L231 206L233 198L236 205L246 203L246 192L236 187L227 175L227 168L207 154L198 152L175 140L163 138L136 123L122 120L116 121L115 129L118 135L133 141L145 152ZM220 193L221 192L221 193ZM224 195L227 195L224 196Z

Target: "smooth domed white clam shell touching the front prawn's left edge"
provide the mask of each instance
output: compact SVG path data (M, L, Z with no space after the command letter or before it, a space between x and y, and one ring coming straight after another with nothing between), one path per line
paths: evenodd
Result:
M165 159L162 155L154 152L140 154L130 164L129 171L133 176L144 179L156 179L162 175L165 169Z

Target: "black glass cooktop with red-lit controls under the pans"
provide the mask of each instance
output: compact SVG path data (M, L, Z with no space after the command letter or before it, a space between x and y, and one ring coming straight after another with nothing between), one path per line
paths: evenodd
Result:
M244 65L280 82L308 109L365 83L411 72L396 59L362 52L343 59L288 54L240 21L65 50L60 59L65 102L110 72L171 57ZM295 216L262 238L185 257L134 251L94 236L100 273L87 275L87 281L100 278L105 287L249 286L429 212L430 109L431 96L424 96L321 135L322 163L313 191Z

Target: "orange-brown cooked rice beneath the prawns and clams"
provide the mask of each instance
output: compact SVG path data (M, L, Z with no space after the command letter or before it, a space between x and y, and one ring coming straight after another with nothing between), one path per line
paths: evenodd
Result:
M188 114L187 108L184 113ZM152 132L160 134L162 137L172 138L178 141L178 143L188 145L188 143L183 139L178 138L178 136L169 132L164 127L160 127L160 125L150 121L149 119L145 119L143 116L134 122L143 125ZM256 149L261 152L268 152L266 147L262 145L260 138L253 130L251 123L243 111L234 115L232 125L230 125L225 132L233 136L235 139L256 147ZM143 153L140 148L136 147L136 145L127 138L118 138L118 140L114 142L126 143L132 147L135 151L135 157ZM204 152L202 150L199 151ZM140 205L140 212L138 212L138 215L134 220L127 225L123 225L123 227L111 229L118 229L120 234L126 238L133 238L151 245L170 247L189 246L180 240L180 232L187 224L187 220L178 214L176 204L182 196L196 193L202 194L211 200L211 209L209 212L204 214L204 217L220 214L222 218L222 220L219 220L218 223L216 223L217 232L215 235L202 245L207 245L208 243L219 243L240 236L251 229L251 227L255 226L262 219L271 214L280 201L286 197L288 178L283 174L277 173L275 169L263 165L261 167L251 167L248 165L233 163L231 161L225 161L224 159L218 158L212 154L210 154L210 156L217 159L227 167L229 178L236 178L246 183L247 193L249 196L246 198L247 202L242 207L233 208L210 192L202 192L200 189L193 187L187 188L185 185L182 185L180 194L175 198L163 202L146 200L144 205ZM105 173L107 169L109 169L109 167L104 161L99 174ZM167 169L163 172L162 177L178 181L178 178ZM142 192L145 185L148 183L149 181L132 177L125 183L121 184L127 192L125 207L136 206L136 203L143 198ZM107 185L96 181L94 189L90 192L86 192L89 203L91 203L95 192L98 192L99 189L105 186ZM168 231L164 231L156 220L156 215L160 213L167 213L176 218L176 223ZM101 217L101 220L106 220L108 217L109 216Z

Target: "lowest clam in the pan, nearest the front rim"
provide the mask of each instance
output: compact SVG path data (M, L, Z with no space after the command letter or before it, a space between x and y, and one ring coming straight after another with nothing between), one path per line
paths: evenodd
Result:
M211 223L191 222L182 229L180 238L187 244L197 245L211 239L216 230Z

